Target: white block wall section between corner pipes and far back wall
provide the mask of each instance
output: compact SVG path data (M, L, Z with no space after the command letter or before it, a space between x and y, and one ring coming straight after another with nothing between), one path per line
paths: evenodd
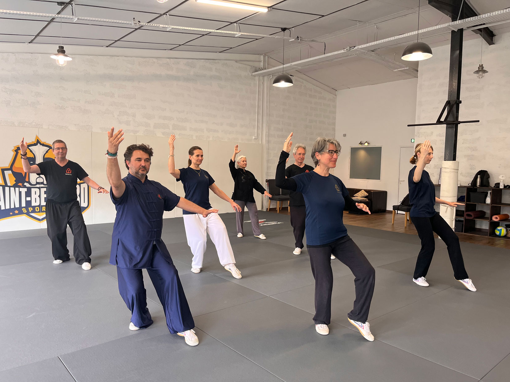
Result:
M294 132L292 142L307 146L305 163L313 167L310 151L317 137L335 137L336 96L300 78L294 86L269 90L269 142L267 176L274 178L285 139ZM293 163L291 155L288 165Z

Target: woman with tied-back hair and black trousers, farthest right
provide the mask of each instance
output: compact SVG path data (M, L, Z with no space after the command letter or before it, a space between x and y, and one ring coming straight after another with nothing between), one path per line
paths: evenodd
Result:
M420 286L428 286L425 276L427 276L428 267L434 255L436 242L433 233L436 232L448 248L448 256L453 267L455 280L469 290L476 292L476 288L464 267L461 245L458 243L457 235L434 209L436 203L446 204L450 207L463 206L464 204L436 198L436 189L430 180L430 176L425 171L425 166L433 158L433 150L430 141L419 143L415 147L414 155L409 160L412 165L416 165L409 172L407 180L409 183L409 202L411 204L410 216L421 239L421 250L416 260L413 281Z

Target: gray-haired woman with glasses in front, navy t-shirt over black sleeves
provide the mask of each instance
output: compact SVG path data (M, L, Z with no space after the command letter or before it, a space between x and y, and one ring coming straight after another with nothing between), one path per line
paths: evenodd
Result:
M285 161L292 146L292 132L285 140L276 167L277 187L303 194L307 209L307 248L310 255L312 274L315 279L315 330L326 335L331 319L331 292L333 291L333 270L330 255L335 255L347 265L354 275L356 298L347 318L369 341L374 340L367 322L370 303L374 293L375 270L358 245L347 234L343 224L343 211L358 207L368 213L368 207L355 203L343 182L329 174L337 166L340 143L336 139L317 138L312 149L314 171L285 178Z

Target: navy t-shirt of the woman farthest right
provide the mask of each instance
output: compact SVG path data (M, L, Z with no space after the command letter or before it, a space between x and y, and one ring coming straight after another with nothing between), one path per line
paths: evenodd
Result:
M421 179L415 183L413 180L416 166L409 172L409 203L411 204L411 217L432 217L436 214L436 188L430 180L430 175L423 170Z

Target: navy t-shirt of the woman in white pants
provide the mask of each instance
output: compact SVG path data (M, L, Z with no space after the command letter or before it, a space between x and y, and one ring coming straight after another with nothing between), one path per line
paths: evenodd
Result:
M205 209L211 209L209 203L209 186L214 183L214 179L206 170L194 170L191 167L179 169L181 176L177 182L182 181L184 186L185 198L190 202L199 205ZM183 210L184 215L191 215L195 212Z

